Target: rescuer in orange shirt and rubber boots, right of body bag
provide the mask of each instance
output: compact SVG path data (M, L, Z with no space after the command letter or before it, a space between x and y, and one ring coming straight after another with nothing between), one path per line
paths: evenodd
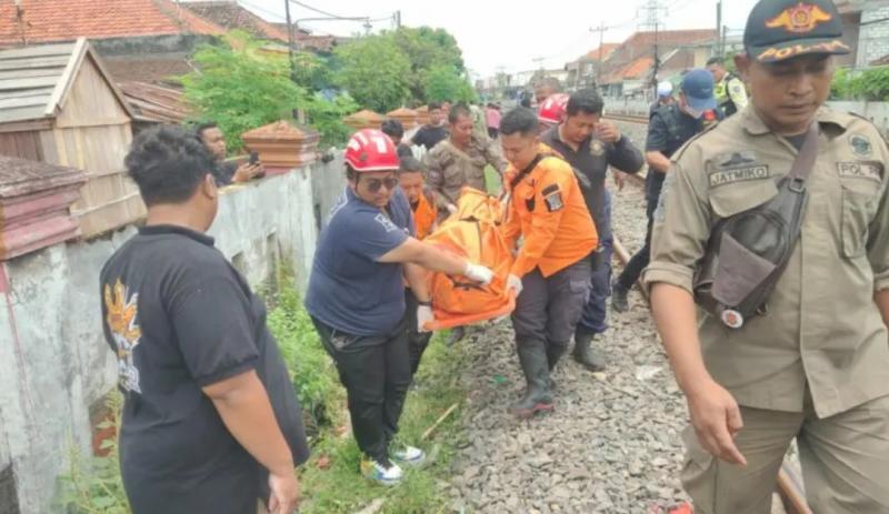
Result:
M596 226L571 167L538 138L537 113L518 108L500 122L503 157L503 235L523 244L508 279L516 291L512 327L528 383L510 412L527 419L552 410L550 371L565 353L590 294Z

